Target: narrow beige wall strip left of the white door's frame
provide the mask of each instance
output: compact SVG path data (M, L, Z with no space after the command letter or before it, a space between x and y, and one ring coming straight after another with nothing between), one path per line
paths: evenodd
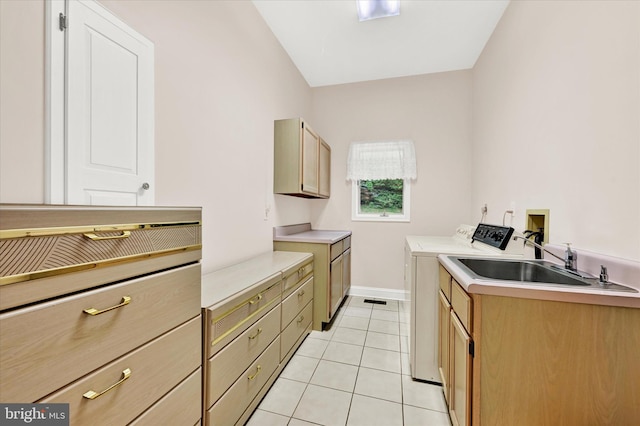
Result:
M44 201L44 2L0 1L0 202Z

